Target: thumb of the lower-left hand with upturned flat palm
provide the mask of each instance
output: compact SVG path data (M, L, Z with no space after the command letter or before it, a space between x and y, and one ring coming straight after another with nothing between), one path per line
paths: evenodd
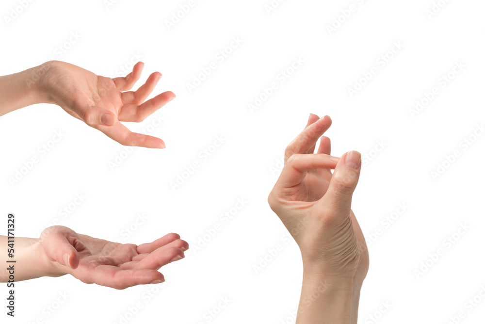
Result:
M79 265L79 253L62 233L53 233L44 247L49 259L53 259L71 269Z

